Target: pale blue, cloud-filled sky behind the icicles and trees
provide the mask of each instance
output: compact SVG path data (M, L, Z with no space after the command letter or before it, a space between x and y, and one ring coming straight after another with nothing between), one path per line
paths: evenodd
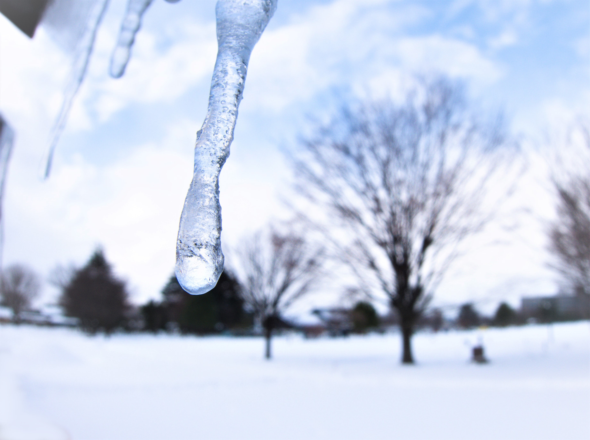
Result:
M124 9L109 4L47 180L42 159L71 55L43 27L31 40L0 16L0 112L16 132L4 264L27 264L46 280L58 264L80 267L100 245L140 304L159 298L173 272L217 53L215 2L154 0L115 80L108 67ZM586 0L278 0L250 58L221 172L224 249L289 217L281 198L291 172L281 151L296 145L310 115L329 114L342 96L401 93L417 74L464 81L474 106L502 110L529 164L506 208L512 232L490 226L473 238L435 304L489 309L555 293L543 233L553 215L545 150L547 139L555 146L577 116L590 115ZM338 289L300 310L335 301ZM39 301L56 297L45 284Z

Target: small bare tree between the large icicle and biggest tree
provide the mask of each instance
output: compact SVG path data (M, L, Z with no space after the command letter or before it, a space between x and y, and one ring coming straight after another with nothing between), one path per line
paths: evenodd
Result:
M235 254L241 295L263 326L270 359L273 331L287 308L319 281L324 251L295 232L271 230L245 239Z

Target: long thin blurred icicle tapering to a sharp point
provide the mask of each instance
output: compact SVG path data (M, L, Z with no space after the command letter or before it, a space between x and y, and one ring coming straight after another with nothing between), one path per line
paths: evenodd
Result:
M90 54L94 46L94 38L96 38L96 32L99 28L100 21L103 18L104 11L106 11L109 0L96 0L91 10L89 19L87 21L86 28L84 29L83 35L77 44L76 54L74 55L74 63L72 66L70 79L68 80L67 86L64 92L64 101L61 104L60 113L55 120L53 129L51 130L49 147L47 152L47 162L45 165L44 178L47 179L51 172L51 162L53 160L53 153L55 146L60 139L61 132L63 132L65 123L68 119L68 114L80 85L86 75L86 69L90 60Z

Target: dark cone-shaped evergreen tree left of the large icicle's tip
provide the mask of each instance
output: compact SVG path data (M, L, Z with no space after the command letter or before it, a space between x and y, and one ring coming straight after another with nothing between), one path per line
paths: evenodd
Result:
M113 275L103 251L97 249L64 285L60 304L67 316L80 320L83 330L111 333L126 323L127 297L124 281Z

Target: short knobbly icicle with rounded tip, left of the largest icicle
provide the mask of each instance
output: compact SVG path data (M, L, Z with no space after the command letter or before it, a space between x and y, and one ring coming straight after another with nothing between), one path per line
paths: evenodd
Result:
M111 57L109 73L113 78L120 78L125 72L125 67L129 63L131 47L135 41L135 34L142 25L143 13L151 3L152 0L127 1L127 11L121 23L119 39Z

